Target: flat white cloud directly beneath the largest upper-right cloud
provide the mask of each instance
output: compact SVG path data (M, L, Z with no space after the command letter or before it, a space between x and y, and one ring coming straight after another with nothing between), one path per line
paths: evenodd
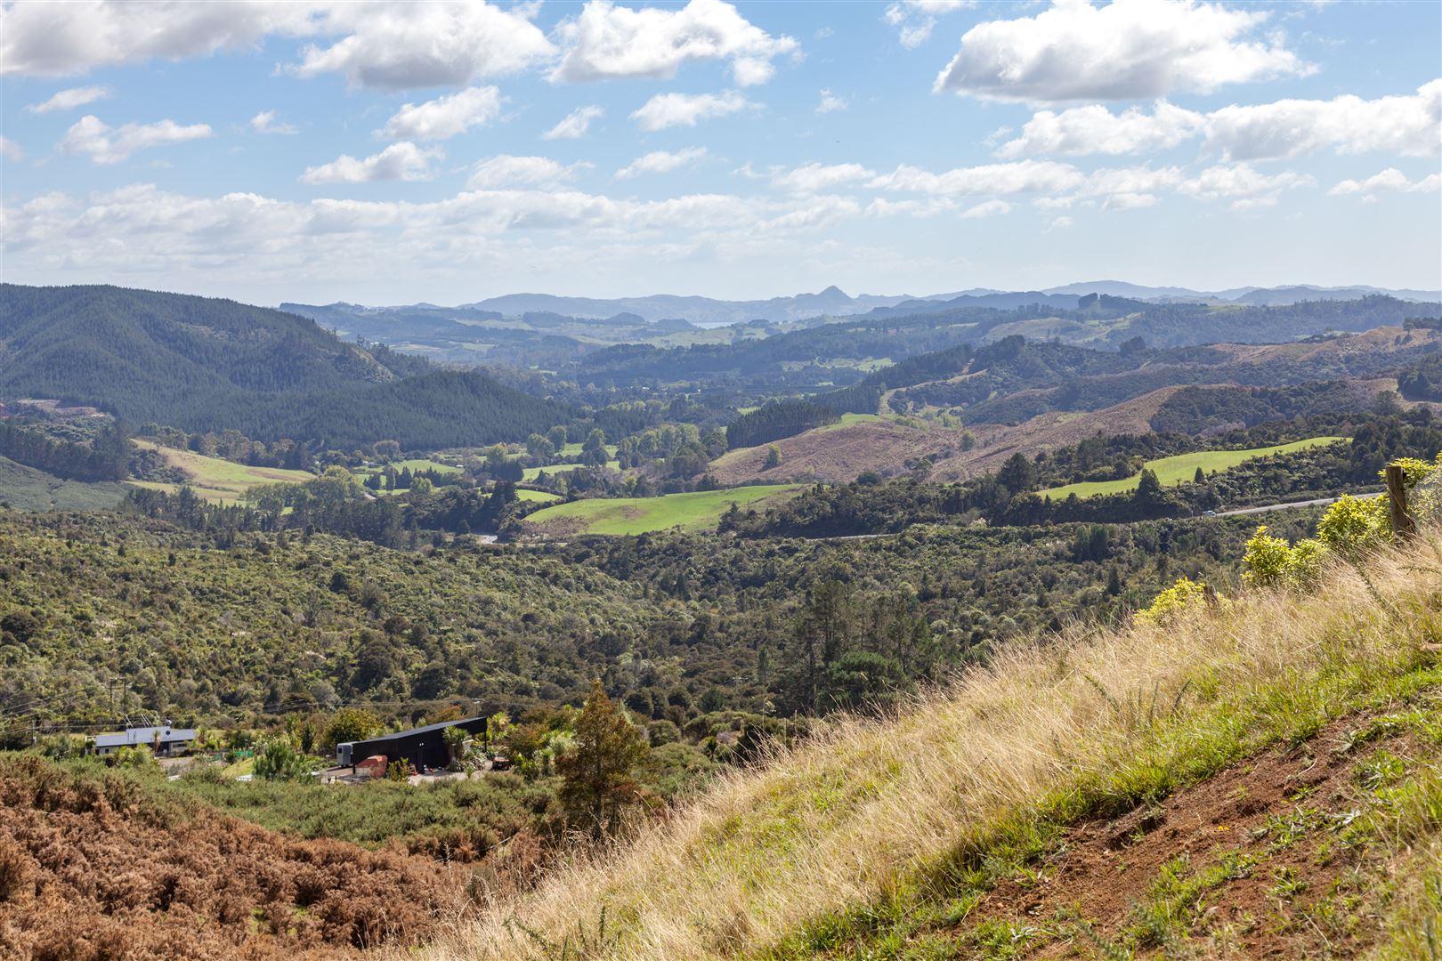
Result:
M1204 117L1167 101L1151 114L1132 107L1112 114L1100 104L1073 107L1060 114L1044 109L1022 127L1021 135L996 150L999 157L1030 154L1135 154L1175 147L1197 135Z

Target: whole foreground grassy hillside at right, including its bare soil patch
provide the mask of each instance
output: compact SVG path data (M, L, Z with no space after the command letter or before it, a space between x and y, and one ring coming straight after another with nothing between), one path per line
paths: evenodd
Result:
M1442 931L1439 555L1430 530L1327 569L1317 594L1014 647L894 719L731 775L428 957L1426 957ZM1296 778L1249 794L1288 758ZM1165 839L1195 827L1175 804L1207 810L1191 785L1221 813L1188 860ZM1171 853L1154 867L1128 852L1159 824ZM1105 900L1058 906L1045 885L1084 867L1087 830L1112 839ZM1255 909L1207 911L1247 892Z

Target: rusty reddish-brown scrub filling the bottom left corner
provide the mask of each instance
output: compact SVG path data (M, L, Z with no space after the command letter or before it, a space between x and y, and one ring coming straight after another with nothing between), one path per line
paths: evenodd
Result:
M120 777L7 761L0 958L350 957L420 942L463 903L459 877L430 859L173 807Z

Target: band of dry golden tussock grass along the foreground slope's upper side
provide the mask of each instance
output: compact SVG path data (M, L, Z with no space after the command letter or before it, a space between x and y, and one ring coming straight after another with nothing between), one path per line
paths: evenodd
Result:
M895 718L838 720L731 774L427 957L780 958L885 944L949 880L1024 859L1057 826L1442 684L1439 643L1432 530L1364 571L1334 565L1311 595L1253 592L1169 627L1015 645Z

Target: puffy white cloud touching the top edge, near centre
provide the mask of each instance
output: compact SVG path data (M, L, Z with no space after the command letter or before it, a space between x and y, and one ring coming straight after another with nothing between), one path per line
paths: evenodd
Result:
M773 37L721 0L691 0L679 10L617 7L590 0L555 30L565 53L551 79L570 84L616 78L669 79L686 61L730 59L738 86L771 79L771 61L797 49Z

